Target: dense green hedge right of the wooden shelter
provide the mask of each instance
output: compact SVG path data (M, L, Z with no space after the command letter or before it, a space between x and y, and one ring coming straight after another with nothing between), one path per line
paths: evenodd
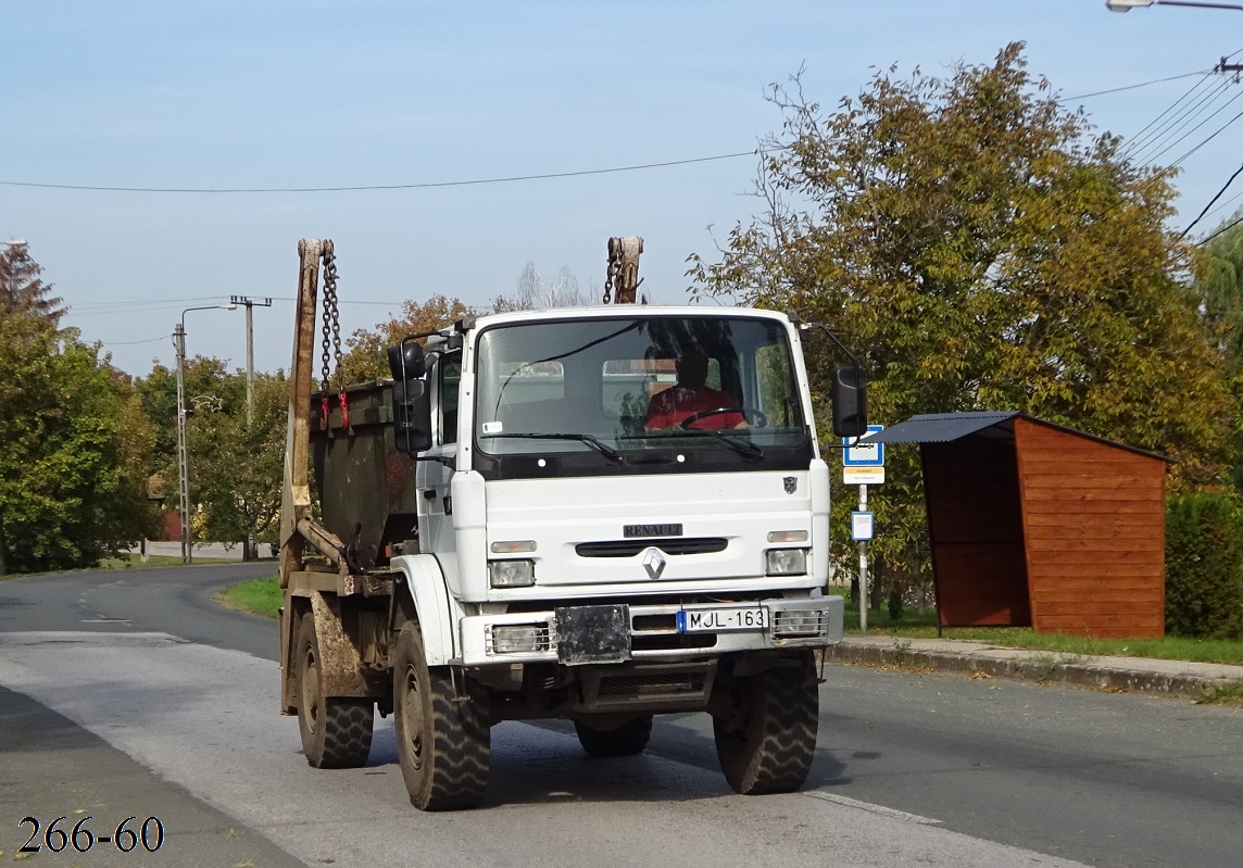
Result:
M1166 632L1243 638L1243 504L1237 495L1167 501Z

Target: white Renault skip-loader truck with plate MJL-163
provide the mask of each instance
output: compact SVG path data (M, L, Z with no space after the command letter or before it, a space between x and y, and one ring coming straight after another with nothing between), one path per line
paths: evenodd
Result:
M619 298L639 249L610 242ZM567 719L589 755L623 756L653 715L706 711L733 790L802 786L843 599L798 325L634 303L479 316L393 347L392 381L312 398L319 262L329 313L336 272L331 241L300 251L281 710L307 761L365 764L392 713L411 803L465 808L492 724ZM655 429L689 353L727 400ZM863 434L858 366L833 383L835 433Z

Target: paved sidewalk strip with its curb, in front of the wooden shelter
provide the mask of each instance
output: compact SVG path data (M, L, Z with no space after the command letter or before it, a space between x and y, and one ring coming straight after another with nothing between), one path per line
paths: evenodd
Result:
M846 635L840 645L829 649L828 659L1192 698L1243 681L1243 667L1219 663L1059 654L967 639Z

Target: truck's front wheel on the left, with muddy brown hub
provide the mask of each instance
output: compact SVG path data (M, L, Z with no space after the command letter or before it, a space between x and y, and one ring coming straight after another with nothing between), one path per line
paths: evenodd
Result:
M455 698L445 667L428 667L415 624L401 628L393 667L397 755L410 803L420 811L472 808L487 790L492 751L487 693L469 679Z

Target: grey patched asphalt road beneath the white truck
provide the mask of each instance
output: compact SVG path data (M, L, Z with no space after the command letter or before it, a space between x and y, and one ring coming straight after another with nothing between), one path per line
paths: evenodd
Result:
M365 769L300 756L276 713L275 626L210 602L270 572L0 583L0 858L30 834L22 817L81 808L99 832L167 816L168 843L34 864L1243 862L1237 709L849 667L825 672L803 793L732 795L706 715L658 719L646 755L597 761L562 724L511 723L493 731L485 807L420 815L388 721Z

